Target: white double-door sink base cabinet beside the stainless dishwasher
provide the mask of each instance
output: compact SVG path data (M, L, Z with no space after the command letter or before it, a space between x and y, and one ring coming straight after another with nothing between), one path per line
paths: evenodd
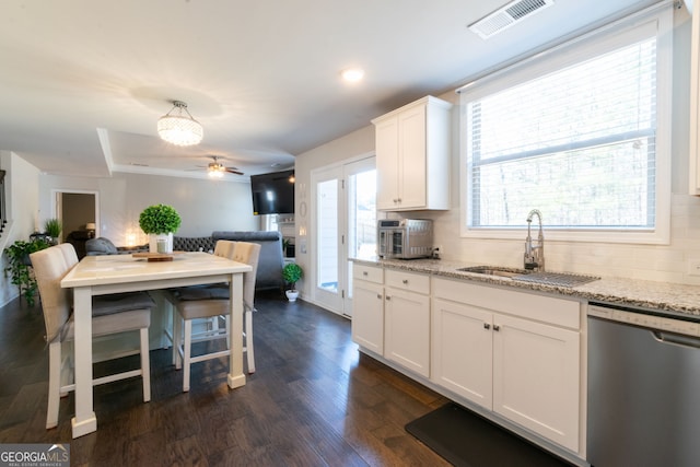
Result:
M574 301L433 279L431 380L578 452L580 313Z

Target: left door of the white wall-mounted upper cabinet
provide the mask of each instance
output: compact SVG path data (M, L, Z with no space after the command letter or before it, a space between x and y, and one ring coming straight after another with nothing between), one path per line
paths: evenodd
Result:
M398 206L398 117L376 124L376 208Z

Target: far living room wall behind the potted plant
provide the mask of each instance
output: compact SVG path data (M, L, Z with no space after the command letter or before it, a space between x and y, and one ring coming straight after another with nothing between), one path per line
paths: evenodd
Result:
M179 236L206 236L214 230L258 230L247 182L126 173L116 173L110 178L42 174L38 190L42 222L54 215L56 190L97 191L97 234L116 245L147 242L139 227L139 214L145 207L156 203L171 205L177 210L183 219L176 233Z

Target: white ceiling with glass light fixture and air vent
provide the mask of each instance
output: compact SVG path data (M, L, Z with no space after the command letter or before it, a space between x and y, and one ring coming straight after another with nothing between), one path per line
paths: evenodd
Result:
M656 2L556 0L483 40L466 26L508 0L4 0L0 149L67 175L178 174L208 154L246 176L281 170L378 115ZM351 66L363 82L341 82ZM173 100L202 124L201 144L158 138Z

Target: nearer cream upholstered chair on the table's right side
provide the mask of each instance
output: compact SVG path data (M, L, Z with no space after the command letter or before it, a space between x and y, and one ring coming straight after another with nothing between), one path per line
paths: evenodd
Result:
M219 243L223 241L219 241ZM255 311L255 277L260 257L260 245L250 242L235 242L230 250L230 259L249 265L253 269L243 276L243 304L244 304L244 346L248 363L248 373L255 372L255 354L253 347L253 312ZM180 288L171 291L168 299L175 307L176 317L174 323L174 359L176 367L183 369L183 392L189 390L190 365L192 363L218 359L229 355L231 346L226 350L219 350L200 355L192 355L192 322L197 319L218 319L224 316L225 331L211 334L206 338L232 338L228 320L231 303L229 296L229 284L213 284L200 288Z

